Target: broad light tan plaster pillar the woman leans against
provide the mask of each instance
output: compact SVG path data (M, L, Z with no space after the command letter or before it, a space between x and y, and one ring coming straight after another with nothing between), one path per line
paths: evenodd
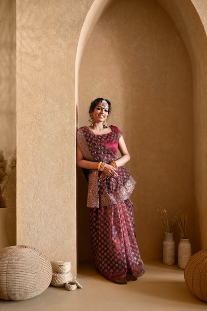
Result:
M91 2L16 4L17 243L75 273L75 57Z

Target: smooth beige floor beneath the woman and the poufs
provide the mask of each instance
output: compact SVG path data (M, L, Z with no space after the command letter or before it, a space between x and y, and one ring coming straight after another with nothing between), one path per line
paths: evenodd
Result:
M0 311L197 311L207 303L195 298L177 265L145 262L145 274L126 285L101 277L91 263L79 265L77 281L82 289L67 291L50 286L25 301L1 301Z

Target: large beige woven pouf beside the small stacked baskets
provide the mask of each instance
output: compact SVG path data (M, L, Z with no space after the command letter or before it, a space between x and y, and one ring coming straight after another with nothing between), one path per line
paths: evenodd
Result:
M44 292L52 280L50 261L30 246L0 249L0 298L26 300Z

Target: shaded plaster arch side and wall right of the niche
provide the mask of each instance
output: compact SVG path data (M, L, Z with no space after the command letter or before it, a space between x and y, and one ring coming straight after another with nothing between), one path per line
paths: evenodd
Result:
M170 13L188 49L194 89L195 202L191 226L196 250L207 247L207 1L159 0Z

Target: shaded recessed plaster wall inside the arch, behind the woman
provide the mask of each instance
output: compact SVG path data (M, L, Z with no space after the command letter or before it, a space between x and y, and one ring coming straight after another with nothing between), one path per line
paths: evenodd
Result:
M132 201L142 257L161 258L157 208L169 216L188 212L193 222L194 142L190 58L157 1L112 1L96 24L80 66L78 126L89 124L90 101L99 96L112 101L108 123L124 132L131 155L127 168L137 180ZM80 260L91 258L85 187L78 170ZM195 242L193 228L189 234ZM178 242L177 232L175 237Z

